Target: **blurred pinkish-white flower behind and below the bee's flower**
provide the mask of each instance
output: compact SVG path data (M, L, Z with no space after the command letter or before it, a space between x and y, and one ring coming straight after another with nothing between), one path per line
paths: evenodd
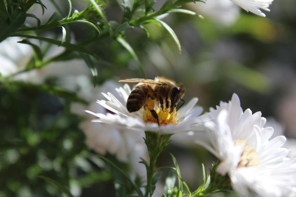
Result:
M91 110L97 113L106 114L108 111L101 105L96 104L96 99L102 99L101 92L112 92L119 96L115 91L118 85L113 81L107 81L101 86L93 88L89 81L89 85L85 85L78 92L78 96L90 102L86 106L80 103L71 104L71 112L78 114L85 119L80 123L79 127L86 136L85 143L95 152L99 154L114 154L121 162L126 162L130 165L130 173L138 174L144 177L146 174L145 166L140 164L139 157L148 159L148 152L144 143L144 132L137 132L118 125L92 123L93 116L85 113L84 110Z

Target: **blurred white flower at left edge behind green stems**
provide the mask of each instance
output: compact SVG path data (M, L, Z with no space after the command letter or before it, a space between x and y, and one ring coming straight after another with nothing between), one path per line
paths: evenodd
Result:
M31 46L17 43L23 39L9 37L0 43L0 73L3 77L23 71L30 58L33 57ZM35 44L38 45L39 43L36 42ZM44 56L44 59L52 58L64 50L63 47L52 45L48 53L46 53L49 55ZM89 74L89 69L82 59L72 59L69 61L55 61L40 69L16 74L11 80L42 84L46 79L57 78L57 85L75 91L77 89L76 77Z

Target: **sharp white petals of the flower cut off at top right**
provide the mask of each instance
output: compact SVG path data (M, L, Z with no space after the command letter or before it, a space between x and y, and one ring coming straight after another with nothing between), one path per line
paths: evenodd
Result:
M265 14L261 12L260 9L270 11L268 9L269 5L274 0L230 0L240 6L242 9L246 10L247 12L252 12L259 16L265 17Z

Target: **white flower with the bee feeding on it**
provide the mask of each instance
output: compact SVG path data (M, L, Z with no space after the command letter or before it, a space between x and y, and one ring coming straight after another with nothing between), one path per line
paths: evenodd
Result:
M115 97L110 92L102 93L106 100L98 100L97 102L112 113L94 113L86 111L95 115L99 119L93 122L102 122L112 125L124 126L128 130L136 131L154 131L160 134L174 134L184 133L194 130L196 125L195 118L202 112L201 107L194 107L197 103L197 98L193 98L180 109L177 113L174 108L172 113L169 113L165 107L160 109L159 105L155 105L155 111L159 118L159 125L156 119L151 115L147 108L142 107L139 111L129 113L126 108L126 101L128 95L131 93L131 88L128 84L123 87L117 88L116 91L120 97ZM153 101L151 101L153 102Z

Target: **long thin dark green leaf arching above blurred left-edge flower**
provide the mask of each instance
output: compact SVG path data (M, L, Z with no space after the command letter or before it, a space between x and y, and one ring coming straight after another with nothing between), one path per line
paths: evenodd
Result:
M61 43L59 40L54 40L54 39L50 39L50 38L43 38L43 37L38 37L38 36L32 36L32 35L25 35L25 34L13 34L11 36L20 36L20 37L25 37L25 38L33 38L33 39L42 40L42 41L45 41L45 42L48 42L48 43L52 43L54 45L60 45L60 43ZM67 48L67 50L69 50L69 51L78 51L78 52L81 52L81 53L91 55L96 59L99 59L99 57L93 51L91 51L91 50L89 50L87 48L84 48L84 47L81 47L81 46L78 46L78 45L74 45L74 44L71 44L71 43L67 43L67 42L62 43L61 46Z

